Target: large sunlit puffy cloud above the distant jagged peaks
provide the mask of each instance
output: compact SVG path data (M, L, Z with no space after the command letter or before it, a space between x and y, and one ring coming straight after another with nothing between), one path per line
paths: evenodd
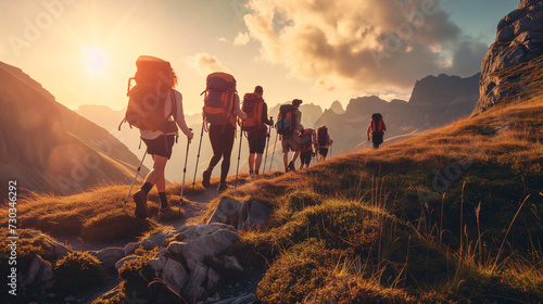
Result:
M439 0L249 0L248 9L262 59L327 89L406 90L430 74L472 75L488 50L462 38Z

